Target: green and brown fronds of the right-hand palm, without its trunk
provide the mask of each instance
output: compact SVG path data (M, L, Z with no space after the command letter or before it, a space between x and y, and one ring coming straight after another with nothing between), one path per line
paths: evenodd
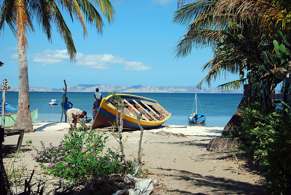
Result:
M187 32L174 48L175 57L186 57L191 54L193 48L208 46L214 50L214 58L203 66L203 71L208 70L208 74L198 87L201 87L203 82L210 85L211 81L221 76L227 78L229 73L241 75L243 71L249 70L246 62L241 60L221 60L225 55L217 51L219 49L217 41L229 45L227 34L235 33L237 42L246 39L242 31L245 29L244 25L247 25L251 32L249 39L255 41L255 45L252 45L252 56L256 63L254 66L249 66L258 68L262 60L263 48L273 41L276 31L281 30L286 33L291 30L290 3L284 1L201 0L188 1L190 3L185 4L186 2L178 0L180 7L173 13L173 22L187 25ZM240 31L239 27L241 27ZM247 44L244 43L244 45ZM241 50L236 55L252 57L246 50ZM226 90L229 89L228 87L237 88L243 83L242 79L220 87Z

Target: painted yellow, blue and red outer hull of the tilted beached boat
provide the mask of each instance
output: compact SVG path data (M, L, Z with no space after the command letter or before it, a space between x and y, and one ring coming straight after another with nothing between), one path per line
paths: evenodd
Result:
M155 100L146 99L140 96L134 96L134 95L128 95L123 94L127 96L139 97L142 98L144 101L151 101L156 102ZM107 96L106 98L102 99L102 102L100 104L100 108L95 116L95 119L92 124L92 128L104 128L104 127L110 127L114 124L116 120L116 110L113 106L110 106L106 103L107 99L109 99L110 96ZM140 101L140 100L139 100ZM167 116L160 121L145 121L140 120L140 124L143 127L143 129L150 129L155 128L158 126L161 126L168 118L171 116L171 113L168 113ZM118 110L118 117L120 117L120 111ZM139 129L139 126L137 124L137 118L129 116L127 114L124 114L123 117L123 128L125 129Z

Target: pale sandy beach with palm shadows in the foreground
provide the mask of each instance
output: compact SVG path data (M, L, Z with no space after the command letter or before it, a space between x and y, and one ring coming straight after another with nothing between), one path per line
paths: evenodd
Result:
M32 146L40 148L40 141L57 145L63 135L68 133L68 123L33 122L34 133L25 133L22 147L18 154L21 162L28 170L35 169L34 179L43 178L42 170L33 160ZM230 160L232 153L211 153L206 150L207 144L214 137L219 137L223 127L205 126L161 126L157 129L145 130L143 133L142 161L148 168L148 177L157 179L159 185L152 194L262 194L260 166L251 160L251 156L237 151L237 159L242 165L245 175L239 171L238 164ZM162 131L162 132L161 132ZM171 133L182 133L186 137L177 137ZM118 147L118 143L109 135L106 146ZM137 157L140 131L125 131L127 137L125 155L127 159ZM18 136L6 137L4 150L10 152L16 148ZM26 140L32 144L26 145ZM11 153L11 152L10 152ZM4 158L4 165L9 158ZM37 167L36 167L37 166ZM46 176L46 179L52 179ZM58 179L54 179L56 182ZM12 187L15 191L15 188ZM21 187L18 187L18 190Z

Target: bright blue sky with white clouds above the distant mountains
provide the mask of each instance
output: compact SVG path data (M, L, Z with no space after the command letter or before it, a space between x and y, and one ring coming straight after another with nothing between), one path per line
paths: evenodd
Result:
M111 3L116 11L113 24L108 25L103 16L106 26L102 35L87 24L85 39L81 24L77 20L72 23L63 12L77 49L76 62L70 61L55 26L50 42L35 25L35 33L27 35L30 86L62 88L64 79L68 86L190 86L197 85L206 76L201 67L212 58L211 49L193 48L191 56L174 59L173 47L186 28L171 22L177 0L111 0ZM10 87L18 88L17 40L7 24L1 32L0 43L0 61L5 63L0 67L2 79L6 78ZM237 79L237 75L227 80L223 77L211 87Z

